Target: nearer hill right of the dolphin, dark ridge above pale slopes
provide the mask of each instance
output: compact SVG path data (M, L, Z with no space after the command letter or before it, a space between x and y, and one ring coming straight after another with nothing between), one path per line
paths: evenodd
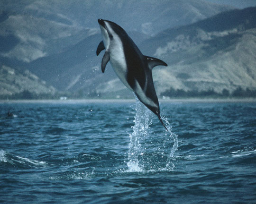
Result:
M155 70L159 92L256 89L256 8L167 29L141 48L169 65Z

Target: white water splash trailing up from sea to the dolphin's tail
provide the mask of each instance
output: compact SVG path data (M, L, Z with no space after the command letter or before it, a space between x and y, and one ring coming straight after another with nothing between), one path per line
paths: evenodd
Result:
M165 132L165 139L162 141L162 145L160 143L156 143L156 148L153 148L156 152L146 153L146 138L150 136L156 136L150 134L149 126L152 124L152 119L154 118L154 114L146 108L146 106L141 103L136 98L136 116L134 119L135 125L132 127L133 132L129 135L130 143L128 146L128 172L144 172L144 171L154 171L154 170L173 170L175 160L174 153L178 148L178 136L171 131L171 126L167 119L163 118L165 125L168 129L168 132ZM164 130L163 130L164 131ZM169 143L170 140L174 141L173 147L171 149L171 153L166 153L166 144ZM142 144L145 144L145 146ZM161 142L159 140L159 142ZM160 159L158 158L160 157ZM162 161L164 160L165 161ZM161 161L160 161L161 160ZM163 163L165 164L163 166Z

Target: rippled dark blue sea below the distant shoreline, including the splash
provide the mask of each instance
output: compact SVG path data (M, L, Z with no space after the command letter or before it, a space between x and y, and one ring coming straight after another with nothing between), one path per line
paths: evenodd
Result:
M170 133L138 102L0 103L0 203L256 203L256 103L161 110Z

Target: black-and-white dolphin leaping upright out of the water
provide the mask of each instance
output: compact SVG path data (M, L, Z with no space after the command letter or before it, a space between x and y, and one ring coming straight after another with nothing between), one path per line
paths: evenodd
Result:
M168 131L160 116L159 102L152 77L152 69L155 66L167 66L167 64L160 59L143 55L125 30L116 23L103 19L98 19L98 22L103 41L98 45L97 56L102 50L106 50L101 61L101 71L104 73L110 61L121 82L157 115Z

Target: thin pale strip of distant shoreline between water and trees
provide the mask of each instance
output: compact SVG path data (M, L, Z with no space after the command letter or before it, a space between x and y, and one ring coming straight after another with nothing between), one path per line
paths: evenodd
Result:
M52 100L52 99L44 99L44 100L0 100L0 103L60 103L60 104L73 104L73 103L119 103L119 102L136 102L135 99L67 99L67 100ZM160 99L159 102L256 102L255 98L226 98L226 99L211 99L211 98L181 98L181 99Z

